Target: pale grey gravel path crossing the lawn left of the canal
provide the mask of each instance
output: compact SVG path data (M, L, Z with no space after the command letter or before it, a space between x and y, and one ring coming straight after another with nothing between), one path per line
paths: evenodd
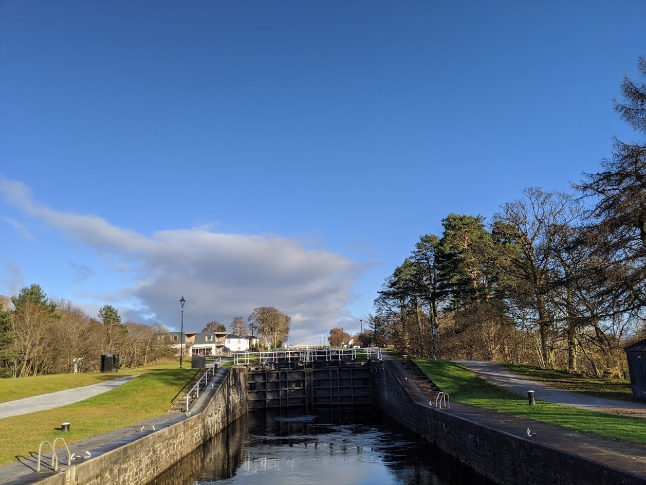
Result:
M0 418L26 415L27 413L35 413L36 411L45 411L45 409L54 409L54 407L74 404L75 402L91 398L97 394L112 391L112 389L119 387L135 377L125 376L98 384L65 389L65 391L57 391L56 393L41 394L40 396L3 402L0 403Z

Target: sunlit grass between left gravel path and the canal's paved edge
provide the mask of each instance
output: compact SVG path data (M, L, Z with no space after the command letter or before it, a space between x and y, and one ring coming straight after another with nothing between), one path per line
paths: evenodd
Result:
M163 368L169 365L172 369ZM171 400L178 391L196 374L190 364L181 370L177 367L174 362L139 369L143 373L138 378L107 393L48 411L1 419L0 465L37 453L43 440L52 442L57 437L64 437L69 444L163 415L170 409ZM56 429L63 422L71 424L67 433Z

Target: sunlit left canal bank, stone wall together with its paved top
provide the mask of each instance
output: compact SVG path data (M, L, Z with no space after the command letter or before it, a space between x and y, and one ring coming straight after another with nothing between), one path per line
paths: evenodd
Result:
M5 485L145 485L247 412L245 369L219 369L189 416L172 413L70 445L68 466L57 448L59 471L34 473L36 457L0 468ZM59 444L60 446L60 444ZM89 451L90 457L85 451ZM45 469L51 454L43 458Z

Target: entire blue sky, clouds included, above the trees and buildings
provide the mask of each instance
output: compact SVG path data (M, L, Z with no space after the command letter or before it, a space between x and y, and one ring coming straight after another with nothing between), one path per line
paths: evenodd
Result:
M0 1L0 294L359 328L450 212L596 171L641 1Z

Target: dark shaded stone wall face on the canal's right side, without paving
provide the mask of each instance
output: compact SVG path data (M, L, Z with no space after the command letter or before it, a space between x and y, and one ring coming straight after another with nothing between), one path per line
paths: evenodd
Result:
M643 485L640 477L413 402L388 363L373 366L380 409L496 483Z

